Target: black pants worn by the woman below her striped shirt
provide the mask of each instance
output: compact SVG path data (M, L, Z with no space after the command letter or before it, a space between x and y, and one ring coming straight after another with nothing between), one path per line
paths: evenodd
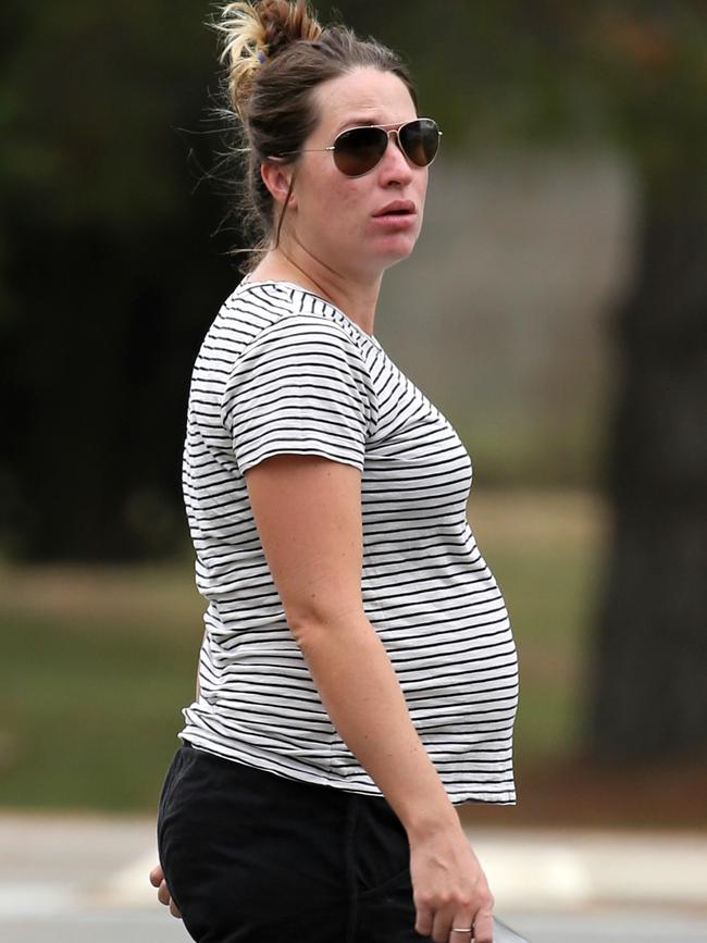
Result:
M385 798L302 783L189 745L158 815L172 896L199 943L425 943L408 837Z

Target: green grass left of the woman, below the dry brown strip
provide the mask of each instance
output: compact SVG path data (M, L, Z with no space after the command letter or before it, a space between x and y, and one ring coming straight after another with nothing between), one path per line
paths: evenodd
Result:
M0 803L148 808L194 688L195 649L149 624L3 620Z

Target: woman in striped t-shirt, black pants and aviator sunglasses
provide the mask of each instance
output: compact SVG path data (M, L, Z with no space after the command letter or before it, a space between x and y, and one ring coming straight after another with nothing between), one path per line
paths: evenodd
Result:
M516 649L469 456L373 333L441 135L390 50L301 2L220 28L263 238L191 382L209 606L151 880L210 943L491 943L455 806L514 802Z

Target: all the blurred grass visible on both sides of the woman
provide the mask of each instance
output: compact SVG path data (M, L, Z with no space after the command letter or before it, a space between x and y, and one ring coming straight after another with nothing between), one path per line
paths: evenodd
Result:
M511 613L517 757L573 752L600 514L584 495L474 495L469 519ZM190 563L0 574L0 805L154 809L194 693Z

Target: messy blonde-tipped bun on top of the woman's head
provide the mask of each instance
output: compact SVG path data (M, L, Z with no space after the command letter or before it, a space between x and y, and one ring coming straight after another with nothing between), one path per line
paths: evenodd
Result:
M261 65L299 39L317 39L322 27L306 0L226 3L215 27L223 37L231 103L241 119Z

